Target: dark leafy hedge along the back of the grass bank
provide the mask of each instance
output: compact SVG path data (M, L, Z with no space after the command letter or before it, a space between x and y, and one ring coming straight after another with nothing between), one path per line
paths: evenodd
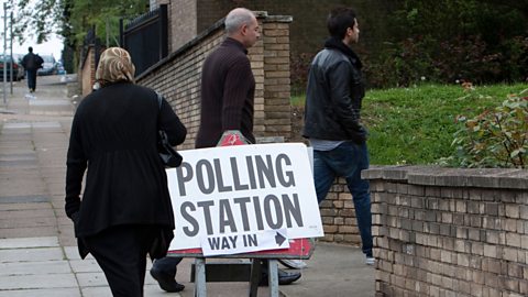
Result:
M515 36L491 48L480 35L457 35L441 42L416 36L385 43L385 47L374 58L366 56L369 86L408 87L421 77L442 84L462 79L476 84L528 79L528 37Z

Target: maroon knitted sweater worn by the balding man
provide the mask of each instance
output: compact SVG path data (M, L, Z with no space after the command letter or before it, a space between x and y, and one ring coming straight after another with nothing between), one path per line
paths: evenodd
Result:
M204 63L197 148L216 146L227 130L240 130L251 143L255 142L255 79L246 54L240 42L228 37Z

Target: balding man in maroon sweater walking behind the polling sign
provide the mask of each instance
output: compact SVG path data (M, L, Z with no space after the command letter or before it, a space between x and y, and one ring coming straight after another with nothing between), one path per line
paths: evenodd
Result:
M248 9L233 9L226 16L227 38L204 63L201 74L201 118L196 148L217 146L228 130L240 131L248 142L253 135L253 102L255 78L251 70L248 48L260 38L255 15ZM175 280L179 257L164 257L154 262L151 275L166 292L180 292L184 285ZM264 264L267 264L265 261ZM267 265L263 265L262 285L267 284ZM300 278L300 273L278 270L280 285Z

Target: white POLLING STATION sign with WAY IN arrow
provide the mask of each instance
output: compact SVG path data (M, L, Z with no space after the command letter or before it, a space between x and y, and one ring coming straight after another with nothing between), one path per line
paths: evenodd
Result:
M167 169L176 220L169 250L261 251L258 239L276 230L285 230L287 239L323 235L306 145L238 145L179 153L182 166ZM284 240L277 245L266 242L265 249L284 249Z

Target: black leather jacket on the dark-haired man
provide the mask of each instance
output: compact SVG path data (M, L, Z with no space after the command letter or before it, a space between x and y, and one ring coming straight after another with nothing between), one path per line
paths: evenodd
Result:
M359 61L334 48L324 48L314 58L308 76L302 136L365 142L366 131L359 122L365 91L355 63Z

